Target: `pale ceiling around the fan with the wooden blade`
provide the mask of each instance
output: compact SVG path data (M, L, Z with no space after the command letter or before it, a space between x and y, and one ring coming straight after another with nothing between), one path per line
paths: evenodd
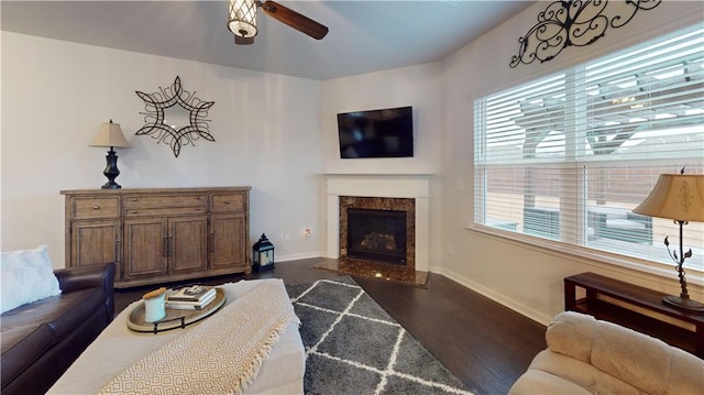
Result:
M327 25L330 32L317 41L260 10L254 44L235 45L227 28L227 0L3 0L0 26L3 31L131 52L330 79L440 61L532 3L279 2Z

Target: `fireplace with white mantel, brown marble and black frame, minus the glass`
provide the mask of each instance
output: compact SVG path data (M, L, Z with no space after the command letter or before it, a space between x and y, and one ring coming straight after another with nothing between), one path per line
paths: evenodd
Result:
M322 268L425 285L429 256L430 177L431 175L326 174L328 257L337 260L327 261ZM348 256L349 207L407 212L407 257L404 265Z

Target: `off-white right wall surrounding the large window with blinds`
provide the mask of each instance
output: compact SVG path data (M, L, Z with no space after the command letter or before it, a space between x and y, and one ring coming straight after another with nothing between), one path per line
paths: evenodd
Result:
M563 277L568 275L591 271L676 295L676 273L671 270L656 275L606 265L466 229L473 216L473 100L657 37L678 26L701 24L704 15L702 2L663 1L653 10L640 11L626 26L607 29L604 37L587 47L569 47L547 63L510 68L510 57L518 53L518 37L536 24L538 13L547 6L548 2L536 2L442 63L441 173L448 182L442 185L440 221L442 245L452 244L455 252L454 256L443 255L440 272L542 323L564 308ZM458 180L469 187L458 190ZM703 298L701 286L692 285L690 293L693 298Z

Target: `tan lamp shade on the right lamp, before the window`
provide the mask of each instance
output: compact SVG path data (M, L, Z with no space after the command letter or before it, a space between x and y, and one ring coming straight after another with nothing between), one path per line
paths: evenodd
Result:
M661 174L634 210L649 217L704 222L704 174Z

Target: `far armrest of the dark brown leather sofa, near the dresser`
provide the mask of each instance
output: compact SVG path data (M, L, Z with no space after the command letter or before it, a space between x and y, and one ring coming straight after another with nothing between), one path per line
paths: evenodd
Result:
M70 293L85 288L100 288L106 293L106 315L108 322L114 316L114 263L79 267L57 268L54 271L58 278L62 293Z

